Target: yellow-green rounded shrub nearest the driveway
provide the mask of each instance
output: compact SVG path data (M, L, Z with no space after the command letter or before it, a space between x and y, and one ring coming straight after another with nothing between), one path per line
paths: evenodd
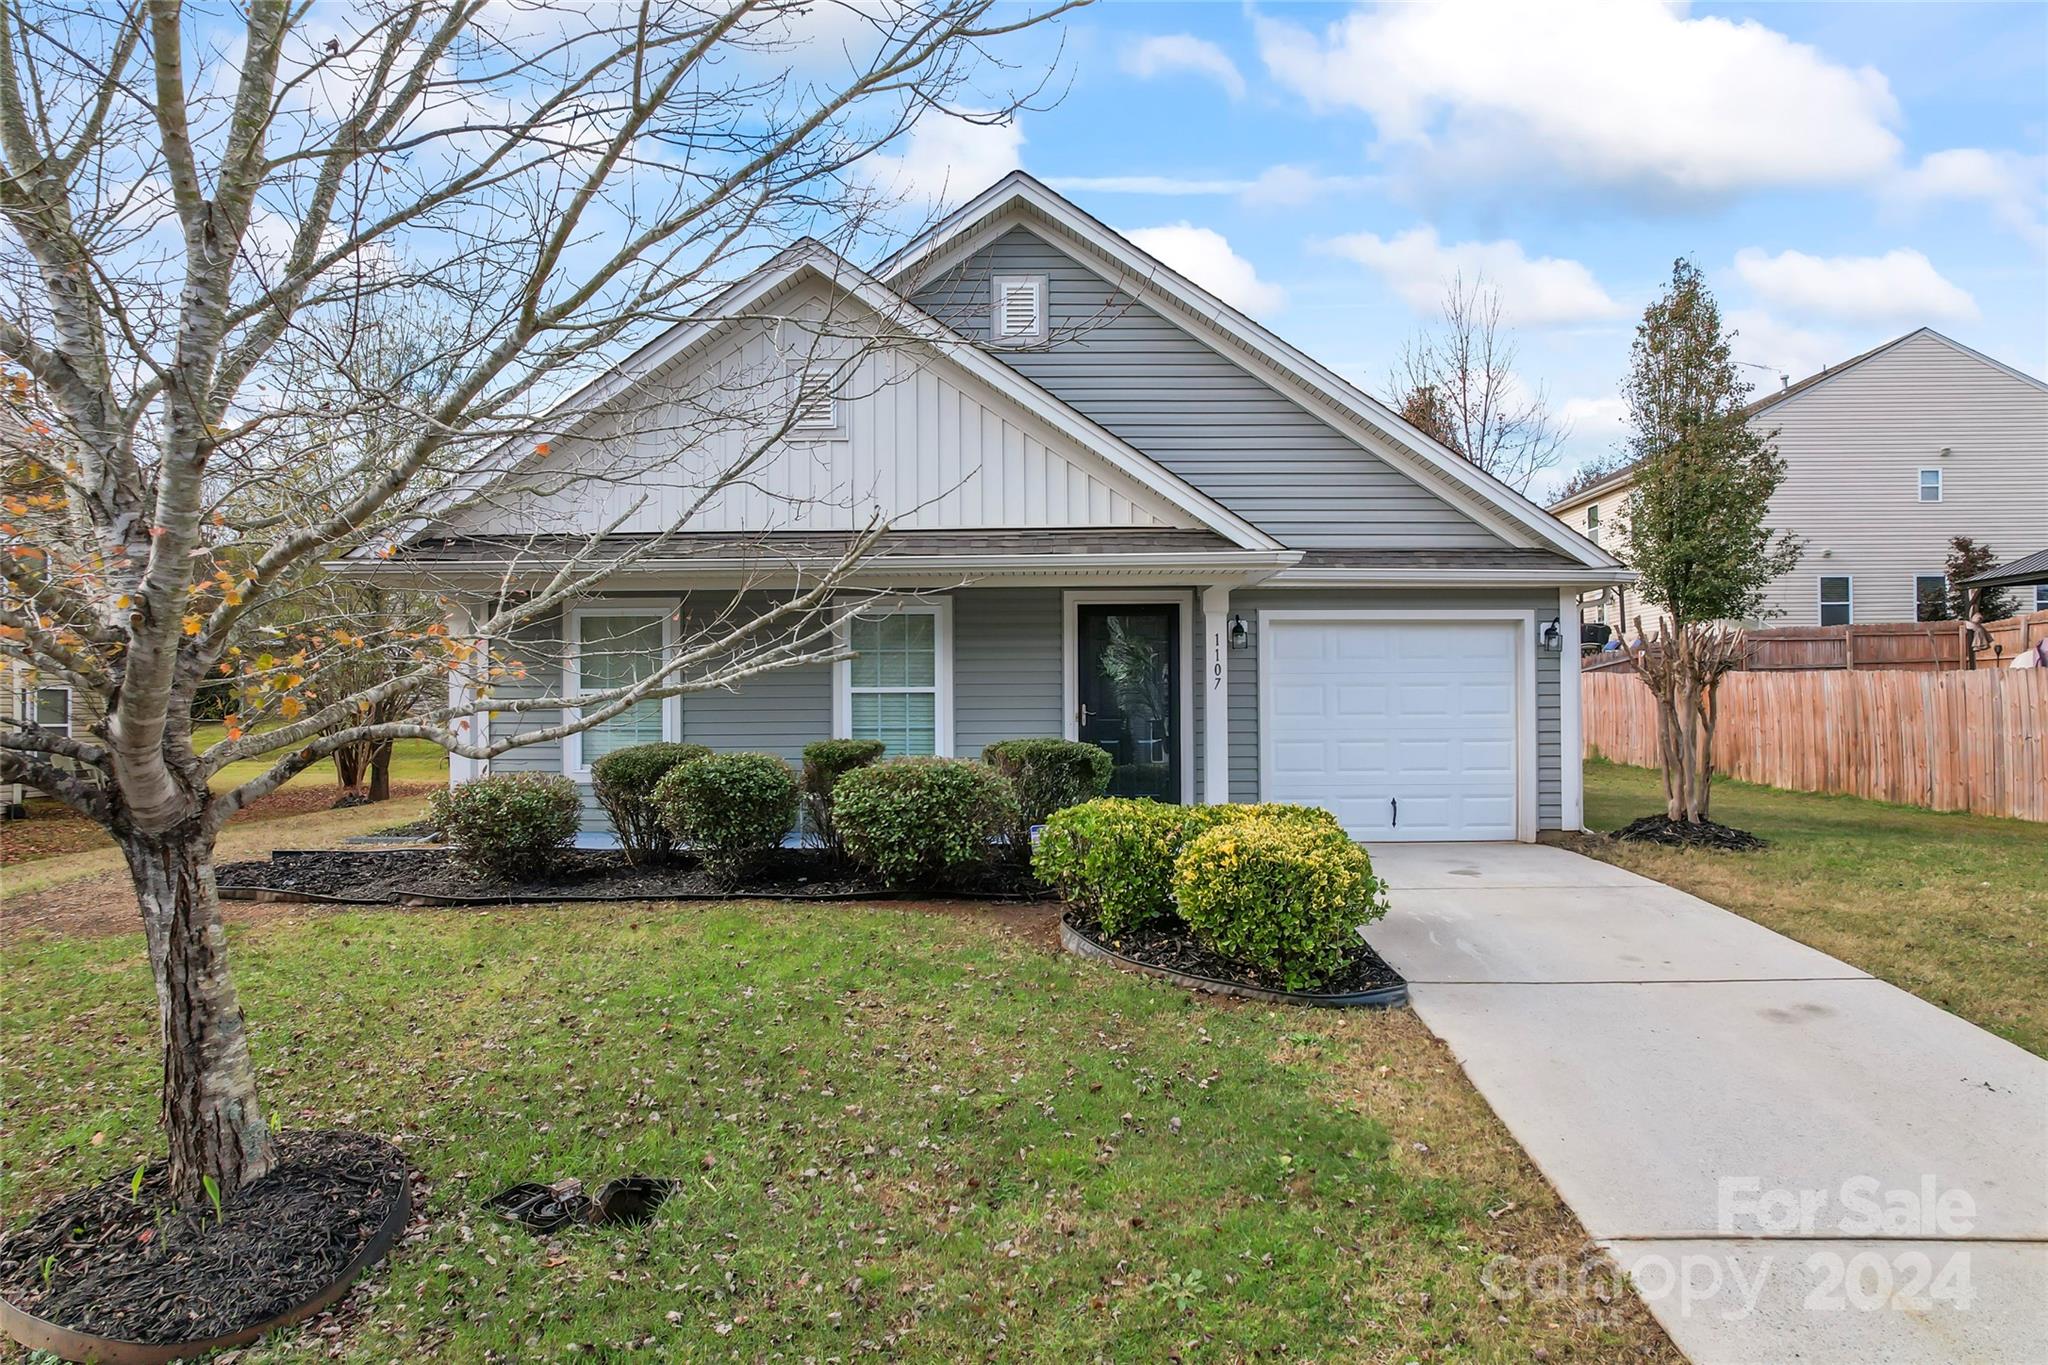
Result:
M1366 851L1335 821L1296 810L1219 825L1174 864L1180 917L1198 943L1309 990L1343 966L1360 925L1386 913Z

